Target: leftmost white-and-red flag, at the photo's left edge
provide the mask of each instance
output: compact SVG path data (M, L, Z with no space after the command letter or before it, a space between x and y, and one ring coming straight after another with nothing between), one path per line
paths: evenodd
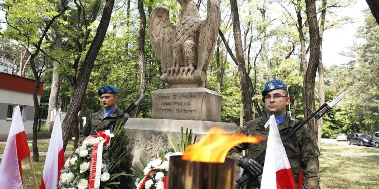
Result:
M30 157L20 107L13 109L11 128L0 164L2 188L23 188L21 160Z

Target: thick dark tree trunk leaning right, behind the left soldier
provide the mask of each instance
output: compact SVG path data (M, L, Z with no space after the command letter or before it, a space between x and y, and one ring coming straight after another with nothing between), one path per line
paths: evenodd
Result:
M107 33L107 28L112 15L113 4L114 0L108 0L105 2L103 15L97 28L97 32L85 56L83 65L80 67L80 73L78 74L78 85L75 89L70 107L62 124L64 149L66 149L68 140L70 139L72 131L75 127L75 123L78 121L78 112L84 99L84 94L88 86L89 76L91 74L94 61L96 60L100 47L103 44L105 34Z

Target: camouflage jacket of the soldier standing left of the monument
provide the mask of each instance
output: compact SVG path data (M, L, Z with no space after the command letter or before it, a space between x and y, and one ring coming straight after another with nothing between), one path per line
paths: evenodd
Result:
M107 117L104 118L104 110L98 111L92 114L91 119L84 125L83 129L79 134L79 142L82 142L87 136L96 134L96 131L102 131L112 128L108 128L109 123L111 123L117 116L123 113L122 110L117 108L117 110ZM127 121L129 118L128 114L124 114L124 121Z

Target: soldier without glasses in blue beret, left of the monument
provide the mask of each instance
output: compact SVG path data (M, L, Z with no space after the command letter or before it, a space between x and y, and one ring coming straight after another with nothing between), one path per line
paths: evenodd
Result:
M102 131L112 128L109 123L123 113L117 108L118 90L112 86L102 86L98 90L98 94L102 99L104 110L92 114L91 119L84 125L80 131L79 142L82 142L87 136L96 134L96 131ZM124 121L129 118L129 115L124 114Z

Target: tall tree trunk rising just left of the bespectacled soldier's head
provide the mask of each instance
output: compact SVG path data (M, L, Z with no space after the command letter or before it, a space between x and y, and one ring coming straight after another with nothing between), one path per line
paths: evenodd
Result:
M233 19L233 34L235 42L236 63L238 64L238 73L240 76L240 87L242 93L242 103L244 105L244 119L248 122L253 119L253 111L251 109L251 98L248 85L248 74L245 68L245 59L242 49L240 18L238 14L237 1L230 0L231 17Z

